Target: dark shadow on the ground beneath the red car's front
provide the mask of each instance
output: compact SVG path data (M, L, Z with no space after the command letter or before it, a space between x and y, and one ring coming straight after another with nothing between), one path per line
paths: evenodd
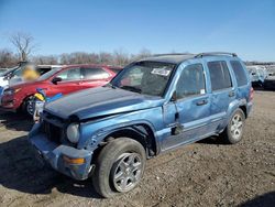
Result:
M0 127L15 131L30 131L33 121L22 113L0 112Z

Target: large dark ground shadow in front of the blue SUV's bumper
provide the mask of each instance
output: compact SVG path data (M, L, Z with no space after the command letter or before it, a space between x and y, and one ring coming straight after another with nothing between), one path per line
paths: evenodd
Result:
M26 137L0 144L0 184L3 187L29 194L51 194L53 188L76 196L100 198L91 181L76 182L35 160Z

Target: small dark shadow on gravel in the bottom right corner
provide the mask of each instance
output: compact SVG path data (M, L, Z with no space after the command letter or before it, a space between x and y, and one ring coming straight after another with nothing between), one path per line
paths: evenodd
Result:
M274 207L274 206L275 206L275 192L261 195L241 205L241 207Z

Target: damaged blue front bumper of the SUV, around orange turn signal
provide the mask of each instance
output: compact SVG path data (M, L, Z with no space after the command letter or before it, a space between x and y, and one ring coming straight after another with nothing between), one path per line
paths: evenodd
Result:
M75 179L82 181L89 177L94 165L91 165L92 152L78 150L67 145L58 145L50 141L46 135L40 132L40 123L34 124L29 134L29 141L34 146L40 159L50 164L54 170L70 176ZM70 164L63 157L84 159L84 164Z

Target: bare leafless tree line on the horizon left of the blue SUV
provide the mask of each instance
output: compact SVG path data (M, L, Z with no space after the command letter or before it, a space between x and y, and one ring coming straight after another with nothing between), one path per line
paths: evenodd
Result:
M0 67L2 68L15 66L21 61L30 61L37 65L107 64L124 66L132 61L151 55L151 52L146 48L143 48L139 54L129 54L123 50L116 50L112 53L74 52L61 55L33 55L36 44L30 34L15 33L9 40L16 52L0 48Z

